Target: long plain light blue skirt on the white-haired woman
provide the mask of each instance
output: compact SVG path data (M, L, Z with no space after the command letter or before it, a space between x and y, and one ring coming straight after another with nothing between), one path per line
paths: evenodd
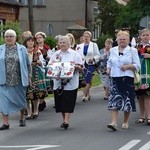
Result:
M26 107L26 87L22 84L17 86L0 86L0 112L9 115Z

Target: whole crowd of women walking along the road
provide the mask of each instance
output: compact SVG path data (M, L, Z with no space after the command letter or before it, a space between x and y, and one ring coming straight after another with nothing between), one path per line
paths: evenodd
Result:
M107 127L116 131L118 112L123 111L122 128L128 129L130 113L136 111L135 99L138 99L140 109L135 123L150 125L149 29L139 32L140 42L130 38L126 29L118 30L116 39L106 39L104 48L100 50L91 41L90 31L83 33L78 44L71 33L57 35L57 45L53 49L45 44L45 38L44 32L32 35L30 31L25 31L22 34L23 44L19 44L14 30L8 29L4 33L5 44L0 45L0 112L3 119L0 130L9 129L9 115L18 111L21 127L26 126L26 120L38 118L39 112L46 108L45 98L52 88L54 108L62 115L60 127L67 129L78 89L82 87L80 80L84 81L82 101L87 102L92 96L90 88L96 70L111 114ZM65 63L68 62L73 69L65 72ZM54 76L56 70L53 73L49 66L60 63L63 66L57 67L57 76ZM71 71L73 75L69 78ZM134 83L135 71L140 74L139 83Z

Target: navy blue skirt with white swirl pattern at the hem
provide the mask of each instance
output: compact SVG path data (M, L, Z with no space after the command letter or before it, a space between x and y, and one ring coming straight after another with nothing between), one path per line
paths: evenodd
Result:
M115 77L110 81L109 110L136 111L134 78Z

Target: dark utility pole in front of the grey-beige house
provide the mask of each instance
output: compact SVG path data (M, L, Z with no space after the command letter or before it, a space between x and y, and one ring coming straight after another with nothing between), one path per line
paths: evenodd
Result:
M29 30L34 35L33 0L28 0Z

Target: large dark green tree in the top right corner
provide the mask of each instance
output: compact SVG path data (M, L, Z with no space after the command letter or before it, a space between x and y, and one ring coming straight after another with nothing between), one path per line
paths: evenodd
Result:
M141 18L147 15L150 15L149 0L130 0L118 13L115 26L118 28L130 27L131 33L136 34L140 29Z

